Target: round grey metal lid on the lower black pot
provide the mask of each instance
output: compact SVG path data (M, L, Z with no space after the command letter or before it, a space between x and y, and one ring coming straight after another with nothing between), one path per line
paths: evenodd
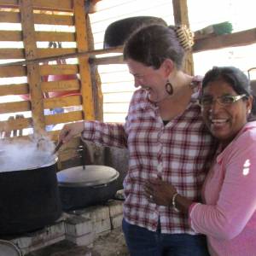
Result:
M76 166L57 172L60 186L89 187L111 183L119 172L109 166Z

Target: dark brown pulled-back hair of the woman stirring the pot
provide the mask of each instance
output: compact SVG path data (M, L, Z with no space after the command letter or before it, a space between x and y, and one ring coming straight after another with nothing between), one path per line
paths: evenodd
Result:
M166 59L171 59L177 69L181 69L185 51L173 27L150 25L131 34L123 53L124 60L132 59L155 69Z

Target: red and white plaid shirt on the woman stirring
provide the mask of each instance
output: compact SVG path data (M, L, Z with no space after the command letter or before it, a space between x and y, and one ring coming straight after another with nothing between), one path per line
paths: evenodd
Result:
M195 234L187 216L172 207L148 202L143 184L161 177L172 183L179 194L201 200L201 185L216 147L203 125L197 96L195 93L184 113L167 125L163 124L158 107L148 102L147 92L141 89L131 99L125 125L84 122L85 140L129 148L129 170L124 181L124 217L129 223L155 231L160 219L162 233Z

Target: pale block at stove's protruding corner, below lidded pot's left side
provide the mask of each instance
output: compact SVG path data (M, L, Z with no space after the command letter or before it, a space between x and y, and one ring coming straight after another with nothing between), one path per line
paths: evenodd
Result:
M92 232L93 224L90 218L73 215L65 220L65 229L69 236L83 236Z

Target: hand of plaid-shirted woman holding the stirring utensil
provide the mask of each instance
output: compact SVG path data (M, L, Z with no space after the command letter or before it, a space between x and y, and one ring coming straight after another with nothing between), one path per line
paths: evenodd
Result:
M79 135L82 131L84 131L84 122L64 125L59 135L59 142L67 143L71 138Z

